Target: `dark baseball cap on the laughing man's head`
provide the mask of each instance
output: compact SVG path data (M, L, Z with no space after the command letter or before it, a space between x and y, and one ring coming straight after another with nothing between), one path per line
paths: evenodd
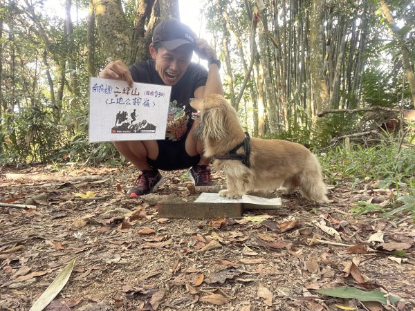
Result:
M178 19L167 19L158 23L153 32L153 43L160 44L167 50L174 50L184 44L189 44L192 50L196 48L194 38L196 35L189 26Z

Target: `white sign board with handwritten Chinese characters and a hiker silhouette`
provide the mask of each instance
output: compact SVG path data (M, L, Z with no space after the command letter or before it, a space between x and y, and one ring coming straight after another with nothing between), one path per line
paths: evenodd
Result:
M164 140L171 86L91 77L89 142Z

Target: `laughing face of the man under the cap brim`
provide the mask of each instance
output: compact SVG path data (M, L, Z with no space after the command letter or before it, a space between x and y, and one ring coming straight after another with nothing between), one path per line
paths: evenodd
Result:
M175 50L167 50L160 46L157 51L153 44L150 45L150 54L156 62L156 71L168 86L174 86L183 77L192 60L192 53L193 50L187 44Z

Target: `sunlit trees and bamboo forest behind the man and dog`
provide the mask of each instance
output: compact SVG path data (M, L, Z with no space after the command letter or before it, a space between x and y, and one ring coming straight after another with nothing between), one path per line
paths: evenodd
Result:
M322 149L414 108L415 1L201 2L225 96L255 137ZM89 77L147 59L156 23L180 18L177 0L56 6L64 18L44 1L1 0L0 164L116 161L111 143L88 143Z

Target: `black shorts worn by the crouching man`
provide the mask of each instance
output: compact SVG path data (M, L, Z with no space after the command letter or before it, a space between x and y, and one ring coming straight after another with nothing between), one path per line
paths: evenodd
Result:
M181 140L173 142L171 140L157 140L158 157L156 160L147 158L147 161L155 169L163 171L174 171L175 169L188 169L199 163L201 156L189 156L186 152L186 138L192 128L189 122L187 131Z

